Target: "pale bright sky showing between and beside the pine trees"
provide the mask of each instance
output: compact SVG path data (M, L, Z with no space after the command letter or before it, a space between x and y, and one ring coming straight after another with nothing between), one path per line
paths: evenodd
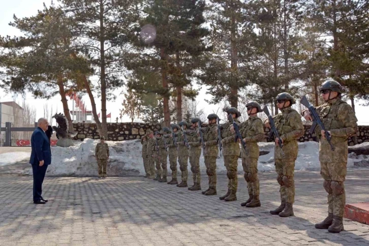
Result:
M43 9L43 3L46 3L46 5L50 5L50 0L12 0L12 1L1 1L0 8L0 35L1 36L14 36L14 35L20 35L20 33L12 26L9 26L8 23L13 20L13 14L15 14L17 17L26 17L26 16L32 16L37 13L37 10ZM195 88L197 85L195 85ZM114 94L117 96L117 99L115 102L107 102L107 113L111 112L112 122L115 122L115 118L119 117L119 109L122 108L121 103L124 100L122 95L119 95L121 93L121 90L123 88L119 88L116 91L114 91ZM206 114L216 112L219 108L219 105L209 105L204 100L210 99L211 96L206 94L206 88L203 86L203 88L200 90L200 94L197 97L197 100L200 102L199 108L203 108ZM43 106L44 104L48 104L49 107L53 107L53 113L55 113L55 110L57 108L58 112L63 112L63 105L60 102L60 96L55 96L51 100L44 100L44 99L34 99L31 95L27 94L25 96L26 102L37 109L37 118L43 117ZM87 106L87 110L91 110L91 104L89 102L88 96L84 96L82 98ZM6 101L13 101L13 95L7 95L3 90L0 89L0 102L6 102ZM21 102L23 101L21 96L18 96L16 101L21 105ZM95 98L95 102L97 103L97 111L100 112L101 109L101 101L100 98ZM356 103L356 116L359 120L359 125L369 125L369 114L368 114L368 107L360 106L359 102ZM72 104L71 101L69 101L69 109L72 110ZM129 117L126 115L123 118L123 122L129 122L131 121ZM139 121L139 120L135 120ZM110 122L110 119L108 119L108 122ZM119 120L120 122L120 120ZM55 122L54 122L55 124Z

